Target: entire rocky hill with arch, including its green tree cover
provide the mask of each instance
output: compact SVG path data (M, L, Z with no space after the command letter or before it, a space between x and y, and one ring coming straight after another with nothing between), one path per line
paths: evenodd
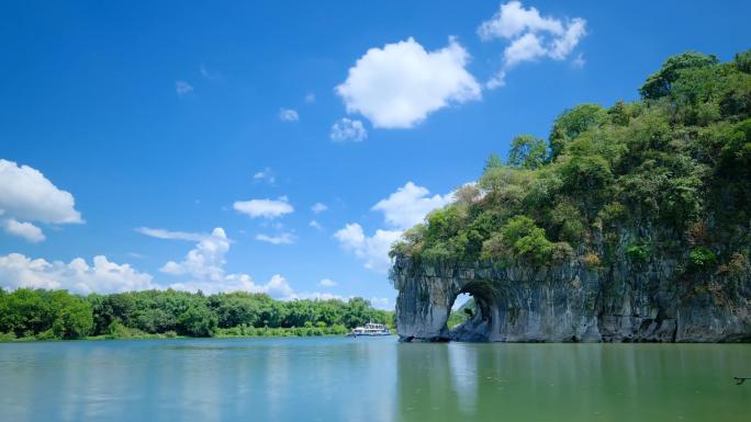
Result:
M639 93L516 137L404 232L402 340L751 340L751 52L671 57Z

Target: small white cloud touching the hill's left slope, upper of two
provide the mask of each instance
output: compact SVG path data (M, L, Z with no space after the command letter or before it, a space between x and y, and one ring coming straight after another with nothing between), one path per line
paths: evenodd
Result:
M381 199L373 210L383 212L385 223L396 229L407 229L422 223L425 216L451 202L451 194L428 196L430 191L407 182L396 192Z

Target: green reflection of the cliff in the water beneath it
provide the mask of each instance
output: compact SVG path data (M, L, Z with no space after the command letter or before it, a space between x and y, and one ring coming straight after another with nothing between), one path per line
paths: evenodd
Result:
M746 345L404 344L401 421L743 421Z

